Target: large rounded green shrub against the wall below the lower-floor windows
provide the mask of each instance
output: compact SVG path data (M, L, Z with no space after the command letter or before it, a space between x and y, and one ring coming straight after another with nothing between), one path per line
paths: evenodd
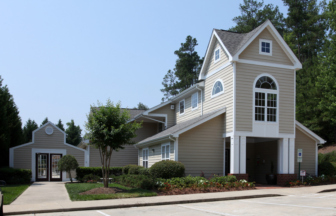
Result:
M149 172L152 178L173 178L184 175L184 165L179 161L161 160L154 163Z

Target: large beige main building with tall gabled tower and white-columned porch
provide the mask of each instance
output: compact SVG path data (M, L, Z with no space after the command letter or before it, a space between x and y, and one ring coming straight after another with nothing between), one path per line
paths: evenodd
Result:
M235 175L265 183L274 162L278 185L301 170L317 174L325 141L295 120L295 72L301 63L267 20L249 33L214 29L199 83L144 111L157 134L136 144L139 165L178 160L185 174Z

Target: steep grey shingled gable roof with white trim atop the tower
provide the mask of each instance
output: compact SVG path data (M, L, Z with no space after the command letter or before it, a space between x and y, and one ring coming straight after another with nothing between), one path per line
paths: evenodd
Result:
M248 33L238 33L233 31L226 31L221 29L213 29L211 38L208 44L207 51L205 53L204 61L201 67L201 71L199 74L199 80L204 79L204 73L206 71L206 66L211 58L211 51L216 39L221 44L225 53L228 55L229 62L237 62L239 61L239 55L244 51L244 49L263 31L267 28L274 39L279 43L280 47L285 51L286 55L293 62L295 70L299 70L302 68L302 64L295 56L293 51L289 48L285 40L281 37L277 29L271 23L269 19L260 24L258 27L253 29Z

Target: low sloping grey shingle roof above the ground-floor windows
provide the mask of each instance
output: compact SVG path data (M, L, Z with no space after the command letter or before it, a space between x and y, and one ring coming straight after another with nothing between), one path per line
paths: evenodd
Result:
M173 134L183 128L186 128L196 122L199 122L201 121L202 119L205 119L207 118L208 116L211 116L211 115L214 115L216 114L217 112L221 111L222 109L220 110L217 110L217 111L214 111L214 112L211 112L211 113L207 113L203 116L199 116L199 117L196 117L196 118L193 118L193 119L190 119L188 121L185 121L185 122L181 122L181 123L178 123L176 125L173 125L171 126L170 128L167 128L166 130L160 132L160 133L157 133L155 134L154 136L151 136L151 137L148 137L142 141L140 141L138 144L140 143L144 143L144 142L147 142L147 141L150 141L150 140L153 140L153 139L157 139L157 138L160 138L160 137L164 137L164 136L167 136L167 135L170 135L170 134Z

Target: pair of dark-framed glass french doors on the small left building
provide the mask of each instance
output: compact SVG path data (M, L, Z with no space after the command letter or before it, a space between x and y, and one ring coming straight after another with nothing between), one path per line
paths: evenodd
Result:
M36 181L62 181L58 161L62 154L36 153Z

